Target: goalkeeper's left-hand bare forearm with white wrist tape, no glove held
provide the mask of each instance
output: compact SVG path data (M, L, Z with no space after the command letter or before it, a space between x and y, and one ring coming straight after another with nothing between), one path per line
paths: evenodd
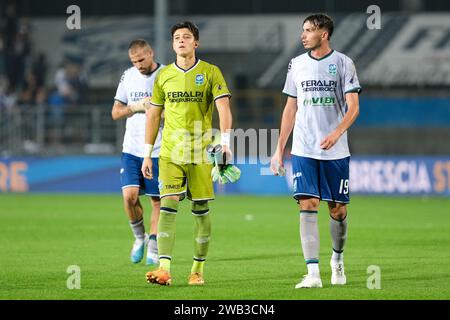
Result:
M153 178L151 155L158 135L162 111L162 107L152 106L146 112L144 162L141 171L147 179Z

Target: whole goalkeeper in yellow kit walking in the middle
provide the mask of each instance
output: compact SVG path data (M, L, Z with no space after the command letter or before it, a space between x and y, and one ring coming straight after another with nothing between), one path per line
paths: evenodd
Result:
M221 145L231 156L230 91L220 69L198 59L199 31L186 21L171 29L176 61L164 67L153 87L152 107L147 110L146 152L142 164L144 177L152 177L150 157L164 110L165 127L159 158L161 214L158 223L159 268L146 274L147 282L171 283L170 264L175 240L178 203L192 201L195 219L194 261L188 278L190 285L202 285L203 267L211 239L208 201L214 199L212 164L206 147L212 142L212 113L217 107L220 118Z

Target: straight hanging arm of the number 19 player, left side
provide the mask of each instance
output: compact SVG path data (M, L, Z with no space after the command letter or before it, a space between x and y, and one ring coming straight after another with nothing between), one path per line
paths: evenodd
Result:
M278 138L277 149L270 162L270 168L275 175L279 174L279 169L283 168L283 154L286 143L291 135L295 124L295 114L297 113L297 98L288 96L281 117L280 137Z

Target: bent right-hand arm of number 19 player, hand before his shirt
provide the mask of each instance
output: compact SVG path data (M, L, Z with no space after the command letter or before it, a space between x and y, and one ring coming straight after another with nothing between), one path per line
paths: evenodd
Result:
M342 119L341 123L337 126L333 132L331 132L325 139L320 143L320 147L324 150L331 149L339 138L344 134L348 128L351 127L353 122L359 115L359 95L357 92L348 92L345 94L345 100L347 102L347 113Z

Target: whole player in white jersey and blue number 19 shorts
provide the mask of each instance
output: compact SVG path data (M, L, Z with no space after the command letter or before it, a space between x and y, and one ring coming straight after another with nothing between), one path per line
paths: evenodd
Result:
M308 269L296 288L322 287L317 223L320 200L327 201L330 213L331 284L346 283L343 251L350 201L347 129L359 114L361 87L352 60L330 48L333 29L333 20L325 14L310 15L303 21L301 41L308 52L289 64L283 89L288 97L271 160L272 171L279 175L293 129L294 198L300 206L300 238Z

